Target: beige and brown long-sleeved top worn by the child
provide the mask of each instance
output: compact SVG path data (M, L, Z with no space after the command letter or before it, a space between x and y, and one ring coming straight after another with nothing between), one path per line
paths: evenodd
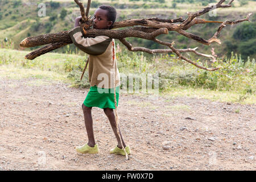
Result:
M68 35L76 47L89 54L88 73L90 86L96 85L100 88L114 88L120 85L117 61L114 59L113 62L115 51L113 51L112 42L114 43L114 39L110 39L108 36L84 38L81 27L73 28L68 32Z

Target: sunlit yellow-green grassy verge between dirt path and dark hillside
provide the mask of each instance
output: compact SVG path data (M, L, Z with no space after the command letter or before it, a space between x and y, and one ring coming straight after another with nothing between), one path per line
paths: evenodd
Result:
M64 82L70 86L89 88L88 72L80 81L86 56L47 53L35 60L26 60L27 51L0 49L0 78L35 78L31 85ZM213 101L255 104L255 60L218 60L208 67L222 66L216 72L206 72L172 55L148 59L143 53L117 53L120 73L158 73L159 94L163 97L198 97ZM195 60L195 59L193 59ZM205 62L204 64L207 64Z

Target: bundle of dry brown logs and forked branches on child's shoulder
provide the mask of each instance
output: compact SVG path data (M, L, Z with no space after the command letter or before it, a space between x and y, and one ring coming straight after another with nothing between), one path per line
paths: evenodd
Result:
M121 22L115 22L113 25L113 28L122 28L122 27L133 27L133 26L143 26L143 27L133 27L128 28L125 30L98 30L98 29L91 29L90 26L92 26L92 19L89 19L88 13L90 8L90 0L88 0L88 5L86 7L86 13L84 11L84 6L80 1L74 0L77 5L80 7L80 12L82 16L82 22L81 22L81 31L84 37L95 37L100 35L109 36L109 38L113 39L119 39L128 49L129 51L143 51L147 53L164 53L164 52L173 52L175 53L180 59L183 59L185 61L188 61L188 63L191 63L195 65L198 68L205 69L208 71L214 71L219 68L204 68L198 65L197 63L193 62L192 60L187 59L186 57L181 55L181 52L193 52L196 55L199 56L205 56L209 58L213 58L211 55L206 55L203 53L199 53L196 51L196 48L191 49L176 49L174 48L174 43L168 43L163 42L161 40L156 39L156 36L160 34L168 34L168 31L176 31L181 35L187 36L189 39L196 40L197 42L209 46L213 42L217 42L218 44L221 44L221 40L217 38L217 36L220 34L222 28L226 26L226 24L237 24L244 21L249 21L249 17L251 15L248 14L245 19L240 20L233 20L228 21L225 20L224 22L220 21L209 21L205 19L198 18L199 16L208 13L209 11L212 11L214 9L218 8L227 8L231 7L233 0L230 0L228 4L222 5L226 0L221 0L216 3L216 5L205 7L202 10L196 11L196 13L188 13L188 18L183 19L182 17L177 19L159 19L159 18L148 18L148 19L129 19L129 20L123 20ZM185 30L188 30L195 24L201 24L201 23L221 23L218 30L215 32L215 34L212 36L212 38L205 40L201 38L200 36L191 34ZM136 38L142 38L147 40L152 40L156 43L162 44L164 46L167 46L168 49L148 49L144 47L135 47L127 42L125 38L127 37L136 37ZM35 46L42 46L45 44L48 44L47 46L44 46L42 48L39 48L30 54L26 55L26 59L35 59L35 57L38 57L42 55L43 53L47 53L49 51L52 51L53 49L57 49L59 47L62 47L61 45L65 46L67 44L71 44L72 40L68 36L68 31L61 31L57 34L45 34L45 35L39 35L34 37L29 37L24 39L20 46L22 47L35 47Z

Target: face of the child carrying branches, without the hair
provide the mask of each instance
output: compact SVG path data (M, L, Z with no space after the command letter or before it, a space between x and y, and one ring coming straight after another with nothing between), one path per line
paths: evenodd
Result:
M94 13L93 28L96 29L109 29L112 25L112 21L108 20L108 10L102 10L98 8Z

